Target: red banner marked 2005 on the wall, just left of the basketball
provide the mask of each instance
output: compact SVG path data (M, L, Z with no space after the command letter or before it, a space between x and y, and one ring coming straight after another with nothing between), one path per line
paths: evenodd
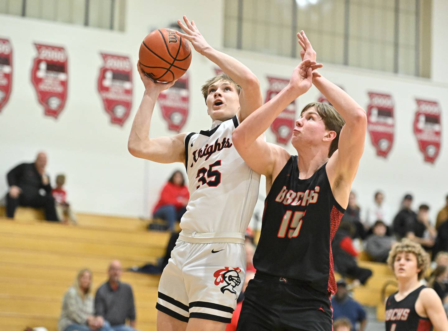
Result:
M99 69L98 92L104 110L113 124L123 125L132 106L132 65L129 56L100 53L103 66Z

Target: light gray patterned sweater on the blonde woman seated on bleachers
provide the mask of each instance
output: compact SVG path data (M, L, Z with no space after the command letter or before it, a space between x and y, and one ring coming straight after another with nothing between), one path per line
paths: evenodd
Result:
M58 331L64 331L72 324L87 325L87 317L93 315L93 297L86 296L84 300L72 286L65 292L62 300L62 311L58 322Z

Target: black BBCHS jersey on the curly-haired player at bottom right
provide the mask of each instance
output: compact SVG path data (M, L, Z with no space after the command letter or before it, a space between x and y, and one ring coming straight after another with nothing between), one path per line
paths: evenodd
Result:
M386 301L386 331L431 331L432 324L429 318L421 317L415 311L415 302L425 285L410 292L401 301L395 300L391 294Z

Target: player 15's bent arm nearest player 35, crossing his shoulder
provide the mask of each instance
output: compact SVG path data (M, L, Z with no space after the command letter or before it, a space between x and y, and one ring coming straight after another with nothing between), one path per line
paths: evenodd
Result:
M233 131L232 142L247 165L255 172L271 176L276 160L286 158L289 153L279 146L268 144L258 138L276 117L299 95L311 87L312 70L321 67L315 61L304 60L293 71L291 80L283 90L269 100Z

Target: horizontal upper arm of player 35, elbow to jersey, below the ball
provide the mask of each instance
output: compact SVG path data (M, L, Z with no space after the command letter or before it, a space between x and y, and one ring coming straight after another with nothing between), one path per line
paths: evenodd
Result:
M158 163L185 162L185 133L174 137L128 141L129 153Z

